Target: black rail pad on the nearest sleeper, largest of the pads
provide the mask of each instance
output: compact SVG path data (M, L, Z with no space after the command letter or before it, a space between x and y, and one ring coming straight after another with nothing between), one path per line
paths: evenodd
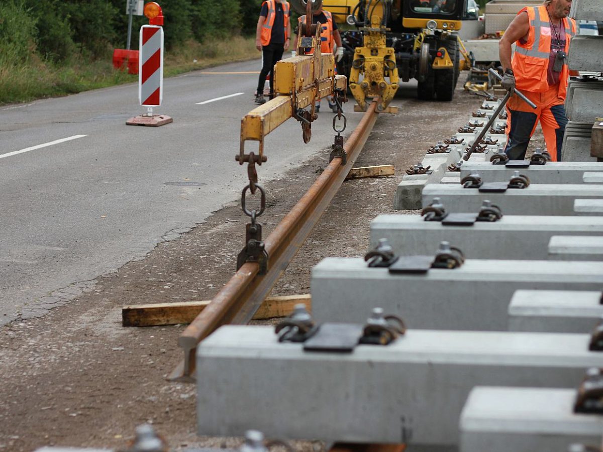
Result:
M304 351L352 353L362 336L362 325L324 323L314 336L303 344Z

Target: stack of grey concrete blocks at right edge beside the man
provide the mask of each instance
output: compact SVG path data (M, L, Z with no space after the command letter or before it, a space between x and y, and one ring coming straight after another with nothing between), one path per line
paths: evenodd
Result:
M576 20L603 20L601 0L575 0L570 16ZM603 36L573 37L567 64L572 71L581 71L581 77L570 78L566 113L569 122L563 137L564 162L587 162L591 157L592 127L596 118L603 116ZM586 72L585 72L586 71ZM590 72L590 74L589 74Z

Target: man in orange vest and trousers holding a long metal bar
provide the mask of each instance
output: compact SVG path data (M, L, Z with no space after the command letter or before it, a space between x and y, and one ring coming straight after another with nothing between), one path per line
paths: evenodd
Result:
M537 105L529 107L519 96L507 102L507 146L511 160L522 160L540 120L551 159L561 161L561 143L567 124L564 102L567 91L567 51L576 34L576 22L567 17L572 0L545 0L525 7L505 31L499 43L504 75L502 87L520 90ZM511 45L517 43L513 61ZM573 74L572 74L573 75Z

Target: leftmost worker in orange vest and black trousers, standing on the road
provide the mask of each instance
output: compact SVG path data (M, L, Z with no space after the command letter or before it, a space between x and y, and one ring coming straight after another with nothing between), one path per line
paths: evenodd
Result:
M270 74L270 99L274 96L274 64L289 49L289 3L285 0L265 0L256 27L256 49L262 52L262 70L257 81L256 104L262 105L264 83Z

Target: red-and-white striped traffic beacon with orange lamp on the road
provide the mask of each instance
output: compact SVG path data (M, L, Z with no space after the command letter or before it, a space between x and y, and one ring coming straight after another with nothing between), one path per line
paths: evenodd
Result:
M140 28L138 100L147 107L147 114L130 118L125 124L157 127L174 121L170 116L153 115L153 107L159 107L163 100L163 13L156 2L147 3L144 12L150 25Z

